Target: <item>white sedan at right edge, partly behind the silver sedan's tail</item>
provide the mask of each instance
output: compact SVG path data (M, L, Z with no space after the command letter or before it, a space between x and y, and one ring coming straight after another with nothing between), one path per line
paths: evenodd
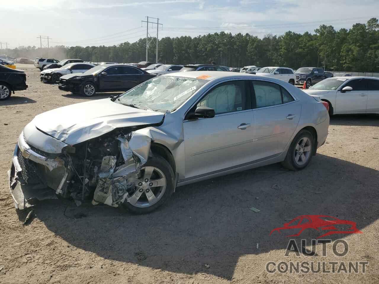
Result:
M304 92L329 103L329 115L379 113L379 78L327 78Z

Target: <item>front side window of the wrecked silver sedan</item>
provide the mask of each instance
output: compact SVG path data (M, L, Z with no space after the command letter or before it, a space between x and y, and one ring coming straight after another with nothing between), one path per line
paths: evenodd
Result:
M197 106L213 108L215 114L250 109L246 80L221 83L211 89Z

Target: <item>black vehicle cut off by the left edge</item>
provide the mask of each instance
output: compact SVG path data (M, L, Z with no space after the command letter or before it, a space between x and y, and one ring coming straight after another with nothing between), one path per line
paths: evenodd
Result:
M14 94L27 87L25 72L0 65L0 101L8 99L12 91Z

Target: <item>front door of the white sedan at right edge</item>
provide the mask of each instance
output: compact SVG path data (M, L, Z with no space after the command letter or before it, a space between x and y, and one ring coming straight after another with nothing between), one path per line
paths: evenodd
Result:
M347 86L352 87L352 91L343 92L342 89ZM334 111L336 113L366 112L367 97L366 81L350 80L338 89Z

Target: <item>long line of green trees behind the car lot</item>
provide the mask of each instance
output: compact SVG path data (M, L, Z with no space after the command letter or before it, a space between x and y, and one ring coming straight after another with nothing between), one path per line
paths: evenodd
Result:
M210 63L229 67L247 65L324 67L326 70L379 72L379 23L376 18L366 24L356 23L349 30L335 30L320 25L314 33L287 31L262 39L251 34L213 33L203 36L163 37L159 40L158 59L167 64ZM95 62L139 62L146 57L146 38L113 46L56 46L52 48L19 47L8 49L13 57L80 58ZM149 61L155 62L155 45L149 47ZM62 55L57 59L64 59Z

